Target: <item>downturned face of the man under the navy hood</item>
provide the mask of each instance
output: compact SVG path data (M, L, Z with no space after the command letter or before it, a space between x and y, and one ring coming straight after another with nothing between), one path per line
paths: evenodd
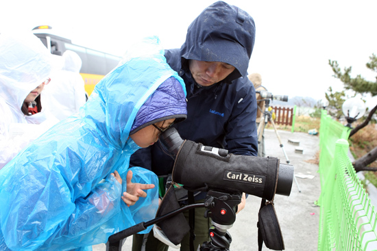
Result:
M210 86L225 79L233 72L234 66L223 62L190 60L189 68L195 81L202 86Z

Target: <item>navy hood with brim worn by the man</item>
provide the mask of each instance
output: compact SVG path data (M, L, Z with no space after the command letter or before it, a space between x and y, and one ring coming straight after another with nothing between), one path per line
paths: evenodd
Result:
M182 66L186 60L225 62L236 68L227 83L247 76L255 41L252 16L240 8L217 1L206 8L187 29L181 47Z

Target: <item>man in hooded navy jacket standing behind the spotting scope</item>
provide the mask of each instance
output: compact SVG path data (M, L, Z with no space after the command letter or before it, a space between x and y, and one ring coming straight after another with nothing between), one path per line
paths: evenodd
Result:
M182 139L226 148L236 155L257 155L256 93L247 78L254 40L253 18L218 1L191 23L180 49L165 51L168 64L186 83L187 118L174 126ZM167 176L174 161L156 144L134 153L131 163ZM198 194L195 201L204 198L204 193ZM239 210L244 206L245 200ZM195 209L195 250L208 241L210 220L203 215L204 209ZM148 237L146 250L167 250L167 246L157 248L163 245L150 240L152 237ZM140 250L136 243L141 239L143 235L134 236L133 251ZM189 235L181 245L181 250L189 250Z

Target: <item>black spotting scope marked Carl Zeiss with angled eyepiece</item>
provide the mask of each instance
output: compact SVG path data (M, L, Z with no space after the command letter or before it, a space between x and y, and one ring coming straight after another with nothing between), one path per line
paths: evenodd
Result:
M175 128L160 135L165 152L175 159L173 181L190 191L241 191L266 200L289 196L293 166L274 157L229 154L228 150L182 140Z

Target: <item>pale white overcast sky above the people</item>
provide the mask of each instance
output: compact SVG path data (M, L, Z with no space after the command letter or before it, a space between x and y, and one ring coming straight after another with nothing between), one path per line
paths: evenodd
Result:
M53 32L84 47L123 55L135 40L159 36L165 49L179 48L195 17L214 0L3 0L0 33L50 25ZM248 73L258 72L275 95L324 98L331 86L343 90L328 60L351 76L376 81L367 69L377 54L377 1L228 0L255 21L256 41ZM367 97L367 106L377 98Z

